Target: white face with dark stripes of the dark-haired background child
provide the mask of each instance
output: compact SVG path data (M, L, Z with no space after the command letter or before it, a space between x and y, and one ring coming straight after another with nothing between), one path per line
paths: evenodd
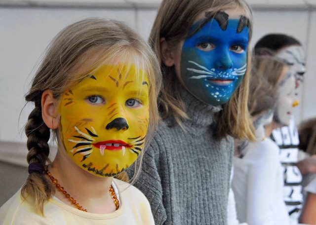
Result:
M305 74L305 56L302 46L291 45L282 48L276 54L276 57L290 66L291 72L295 75L296 88L298 88L303 82L303 76Z

